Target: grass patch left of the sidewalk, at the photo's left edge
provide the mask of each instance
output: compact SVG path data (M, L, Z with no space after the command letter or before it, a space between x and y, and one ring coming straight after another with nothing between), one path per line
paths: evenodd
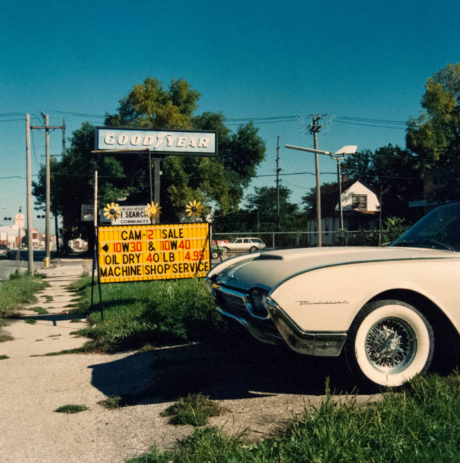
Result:
M0 282L0 317L10 316L23 304L34 302L34 294L48 287L40 275L15 272Z

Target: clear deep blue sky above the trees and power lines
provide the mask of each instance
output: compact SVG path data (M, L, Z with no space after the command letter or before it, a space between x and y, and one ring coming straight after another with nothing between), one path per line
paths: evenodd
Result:
M147 76L186 78L197 114L223 111L228 125L254 118L266 161L253 185L275 185L282 145L313 147L310 114L326 114L320 149L405 145L428 77L460 61L457 0L401 1L18 1L0 0L0 224L26 206L24 114L42 125L100 124ZM267 123L261 118L302 116ZM388 123L390 121L392 123ZM33 174L45 136L33 131ZM62 133L50 136L51 154ZM313 187L314 155L282 148L282 184L300 198ZM321 181L335 161L320 158ZM331 172L330 174L328 172ZM21 177L6 179L5 177ZM5 209L1 208L6 206ZM44 229L44 221L34 226Z

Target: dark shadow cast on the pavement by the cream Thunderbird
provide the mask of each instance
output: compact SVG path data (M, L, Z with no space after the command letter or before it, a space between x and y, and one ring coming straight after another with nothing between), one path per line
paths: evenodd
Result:
M95 388L129 404L174 401L199 392L215 400L321 395L328 376L335 392L352 392L355 385L342 358L302 356L251 342L170 347L90 367Z

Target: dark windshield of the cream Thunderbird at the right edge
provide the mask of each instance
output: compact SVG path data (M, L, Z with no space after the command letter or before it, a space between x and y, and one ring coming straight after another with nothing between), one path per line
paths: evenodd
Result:
M390 246L460 251L460 202L432 210Z

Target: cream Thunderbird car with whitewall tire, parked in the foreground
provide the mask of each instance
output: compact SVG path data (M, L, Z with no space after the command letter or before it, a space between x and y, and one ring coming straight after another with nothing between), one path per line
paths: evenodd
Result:
M206 278L219 312L266 343L339 356L367 382L398 386L460 329L460 202L390 246L241 255Z

